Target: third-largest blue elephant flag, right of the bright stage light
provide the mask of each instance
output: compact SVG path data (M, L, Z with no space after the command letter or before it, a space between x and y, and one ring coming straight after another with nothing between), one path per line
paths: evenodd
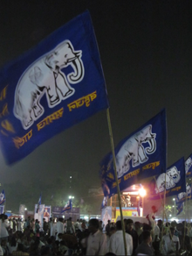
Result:
M185 162L184 158L177 160L173 165L168 167L166 173L155 176L150 184L150 194L148 197L151 200L160 199L164 195L166 188L166 196L177 196L180 192L186 192L185 181Z

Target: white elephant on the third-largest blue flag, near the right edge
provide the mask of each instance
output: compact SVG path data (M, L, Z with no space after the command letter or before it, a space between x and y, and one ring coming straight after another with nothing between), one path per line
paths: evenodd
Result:
M160 174L156 180L155 192L156 194L164 191L166 189L174 188L175 183L181 180L180 171L176 167L171 167L168 169L166 174Z

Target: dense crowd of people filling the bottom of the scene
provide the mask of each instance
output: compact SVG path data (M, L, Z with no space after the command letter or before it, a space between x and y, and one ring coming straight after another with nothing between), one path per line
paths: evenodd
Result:
M51 217L49 222L0 216L0 255L191 255L192 224L132 218L116 223ZM123 232L125 230L125 232Z

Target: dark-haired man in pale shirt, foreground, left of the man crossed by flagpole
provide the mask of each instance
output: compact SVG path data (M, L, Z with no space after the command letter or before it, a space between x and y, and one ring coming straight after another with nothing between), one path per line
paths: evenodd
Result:
M90 219L88 229L90 234L86 240L86 255L105 255L106 234L99 231L99 220Z

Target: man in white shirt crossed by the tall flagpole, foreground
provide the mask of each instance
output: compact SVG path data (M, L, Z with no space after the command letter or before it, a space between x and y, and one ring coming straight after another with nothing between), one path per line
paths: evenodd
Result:
M127 255L132 255L134 249L133 238L131 235L127 233L125 233L125 236L127 245ZM116 222L116 232L110 238L109 252L113 252L116 255L126 255L122 225L120 220Z

